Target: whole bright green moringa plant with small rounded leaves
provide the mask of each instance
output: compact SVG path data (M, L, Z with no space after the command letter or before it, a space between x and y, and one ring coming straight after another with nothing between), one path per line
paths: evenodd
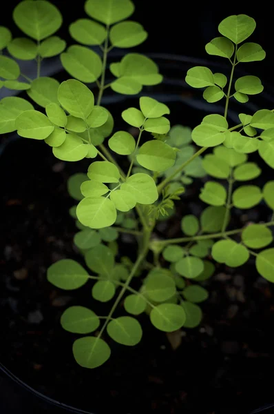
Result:
M251 17L227 17L218 26L221 36L206 46L209 55L224 57L231 65L229 80L204 66L187 72L187 83L202 88L207 102L224 101L223 115L207 115L191 131L180 125L170 128L169 108L143 93L143 87L162 81L154 61L129 52L107 64L113 48L132 48L147 38L143 26L126 20L134 12L131 0L87 0L85 12L88 17L70 25L76 44L66 48L63 39L53 36L62 16L52 3L24 0L14 8L14 22L28 37L12 39L8 28L0 28L0 82L25 91L27 99L1 100L0 132L16 130L21 137L43 140L63 161L89 160L87 171L67 183L78 201L70 215L76 220L74 244L85 267L61 259L48 268L48 280L65 290L91 289L90 308L67 308L61 325L81 335L73 344L76 362L95 368L109 359L110 338L127 346L140 342L141 313L164 332L198 326L198 304L208 297L204 281L213 275L215 262L235 268L255 256L257 272L274 282L274 248L266 248L273 242L273 217L243 228L230 223L234 208L265 203L274 210L274 181L264 188L249 184L261 169L248 161L257 151L274 168L274 113L241 112L237 125L227 120L230 99L246 103L249 95L263 90L258 77L233 77L238 64L265 57L257 43L243 43L255 30ZM44 59L57 55L70 75L61 84L41 77ZM22 60L36 61L35 79L21 73ZM106 76L112 77L109 83ZM101 106L107 88L140 95L136 107L121 114L125 130L114 129L112 114ZM96 99L91 89L98 90ZM181 197L185 187L201 177L202 214L181 218L182 237L163 238L158 224L187 202ZM136 239L135 262L124 255L123 233ZM103 315L92 310L96 302L105 303Z

